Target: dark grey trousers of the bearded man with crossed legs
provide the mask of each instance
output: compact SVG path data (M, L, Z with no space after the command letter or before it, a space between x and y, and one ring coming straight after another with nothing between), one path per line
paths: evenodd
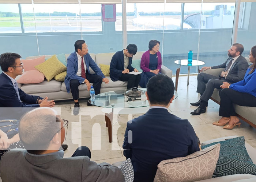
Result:
M206 73L198 74L196 92L202 94L200 100L208 102L214 91L214 88L221 88L220 86L223 84L223 82L226 82L225 78L219 79L216 76Z

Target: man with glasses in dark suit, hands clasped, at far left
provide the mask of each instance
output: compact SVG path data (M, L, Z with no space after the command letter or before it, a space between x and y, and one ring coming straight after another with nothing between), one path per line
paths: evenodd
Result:
M16 53L3 53L0 55L0 66L3 73L0 74L0 107L53 107L53 100L47 101L48 97L28 95L18 88L15 78L22 75L24 69L20 60L21 56Z

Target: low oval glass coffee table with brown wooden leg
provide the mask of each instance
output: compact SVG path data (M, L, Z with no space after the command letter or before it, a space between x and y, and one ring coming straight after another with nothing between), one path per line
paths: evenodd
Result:
M147 91L146 88L139 89L144 92ZM146 100L144 96L143 98L128 97L127 95L125 95L125 92L128 90L125 89L104 92L95 95L95 102L91 102L91 100L89 100L90 104L98 107L103 107L102 111L105 112L105 122L106 127L108 127L109 143L112 142L112 125L114 110L116 110L118 114L140 114L148 111L148 100ZM177 97L178 93L174 92L174 99L176 99Z

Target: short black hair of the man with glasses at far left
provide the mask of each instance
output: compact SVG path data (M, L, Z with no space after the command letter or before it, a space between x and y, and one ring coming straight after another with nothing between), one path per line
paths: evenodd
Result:
M0 55L0 66L2 71L7 72L9 67L15 66L15 60L21 58L19 54L6 52Z

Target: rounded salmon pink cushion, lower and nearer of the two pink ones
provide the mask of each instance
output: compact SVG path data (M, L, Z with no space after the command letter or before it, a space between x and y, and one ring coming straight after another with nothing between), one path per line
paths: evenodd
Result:
M37 71L30 70L23 72L20 78L17 80L18 83L29 84L29 83L41 83L45 80L45 76Z

